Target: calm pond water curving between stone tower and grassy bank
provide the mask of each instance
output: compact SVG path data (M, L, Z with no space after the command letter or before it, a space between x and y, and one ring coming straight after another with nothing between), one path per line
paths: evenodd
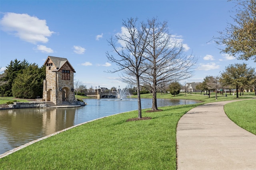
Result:
M86 99L84 102L88 105L58 109L0 110L0 154L79 123L138 109L136 99ZM158 99L157 105L159 107L197 102ZM151 106L152 99L142 99L143 109Z

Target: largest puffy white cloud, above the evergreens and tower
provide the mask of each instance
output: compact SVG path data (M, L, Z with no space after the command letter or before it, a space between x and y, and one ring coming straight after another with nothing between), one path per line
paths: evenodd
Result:
M49 30L46 20L40 20L28 14L16 14L8 12L1 20L1 29L7 33L19 37L23 41L36 44L47 43L48 38L54 32Z

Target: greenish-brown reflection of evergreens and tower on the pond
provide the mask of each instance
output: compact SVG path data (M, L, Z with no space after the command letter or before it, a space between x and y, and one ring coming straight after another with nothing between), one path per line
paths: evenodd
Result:
M11 109L0 113L0 154L74 125L76 108Z

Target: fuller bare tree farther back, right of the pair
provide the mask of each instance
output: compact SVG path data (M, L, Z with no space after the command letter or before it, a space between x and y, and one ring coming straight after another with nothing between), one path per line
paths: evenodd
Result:
M179 80L190 78L194 71L193 66L197 59L192 55L184 54L182 43L173 39L168 32L167 21L160 22L157 18L152 18L143 25L144 30L149 30L148 45L146 47L147 68L143 72L141 79L144 84L150 86L152 97L152 110L156 111L156 88Z

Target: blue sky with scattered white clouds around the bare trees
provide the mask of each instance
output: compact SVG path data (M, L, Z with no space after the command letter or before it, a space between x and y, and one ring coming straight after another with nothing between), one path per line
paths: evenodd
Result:
M158 17L168 21L169 32L184 44L185 54L198 57L194 76L186 82L202 82L217 76L233 63L247 63L221 54L212 37L232 23L234 2L226 0L1 0L0 67L26 59L39 66L48 56L67 58L75 78L87 88L125 88L116 67L106 57L107 40L121 33L122 20ZM184 81L181 81L183 84Z

